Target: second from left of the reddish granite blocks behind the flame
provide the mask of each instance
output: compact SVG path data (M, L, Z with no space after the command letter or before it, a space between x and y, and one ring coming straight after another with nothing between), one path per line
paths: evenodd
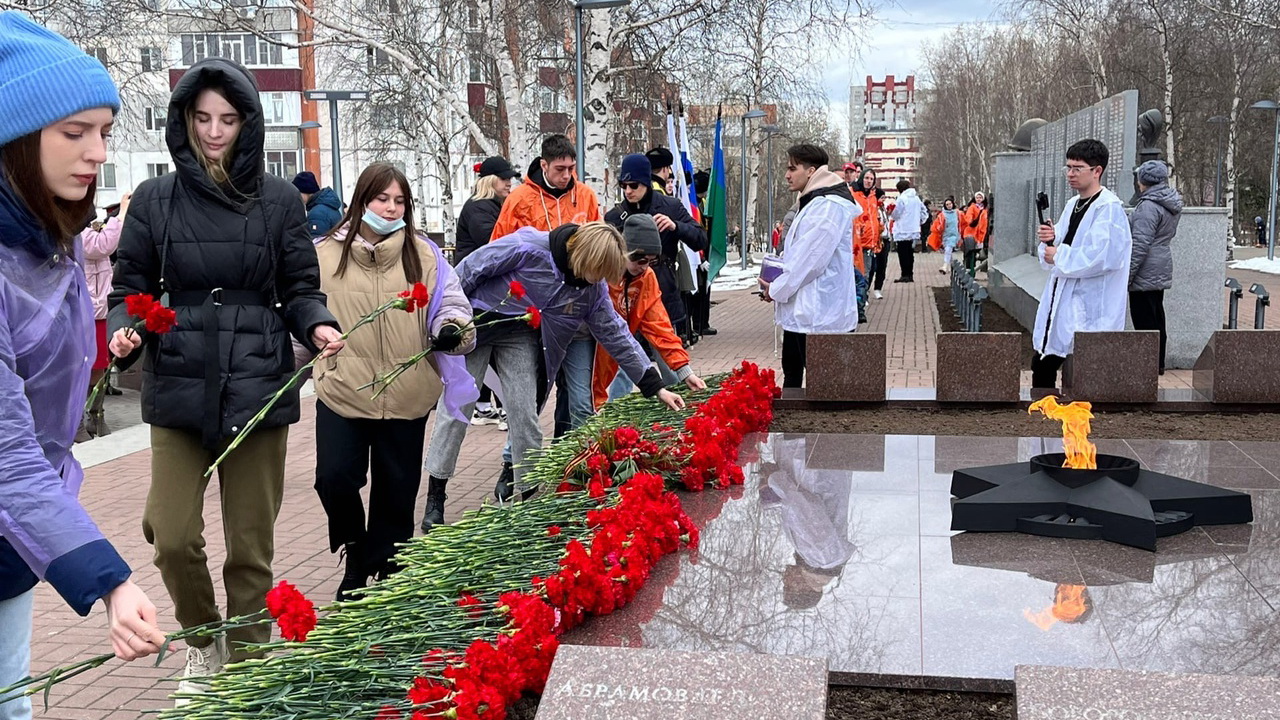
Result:
M938 333L938 402L1018 402L1021 336Z

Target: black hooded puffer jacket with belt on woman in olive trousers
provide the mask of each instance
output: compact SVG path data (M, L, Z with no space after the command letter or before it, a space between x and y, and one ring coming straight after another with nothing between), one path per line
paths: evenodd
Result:
M187 109L210 87L243 117L229 187L210 179L187 140ZM177 327L143 332L142 420L200 432L212 447L238 433L293 373L289 334L314 351L312 331L338 323L320 292L298 191L264 170L265 124L248 70L219 58L187 70L169 101L165 140L175 170L133 193L108 328L134 324L127 296L169 293ZM296 423L298 414L294 388L261 427Z

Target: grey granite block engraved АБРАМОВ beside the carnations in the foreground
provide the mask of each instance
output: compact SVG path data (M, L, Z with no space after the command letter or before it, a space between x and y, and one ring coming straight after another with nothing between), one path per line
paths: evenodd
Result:
M538 720L822 720L827 661L563 644Z

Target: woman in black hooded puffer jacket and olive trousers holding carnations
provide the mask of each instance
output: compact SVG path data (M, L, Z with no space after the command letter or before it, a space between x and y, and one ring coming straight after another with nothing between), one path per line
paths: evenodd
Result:
M293 372L292 334L312 351L342 347L320 292L315 246L298 191L264 172L265 127L248 70L224 59L192 67L173 91L165 140L177 172L133 193L120 237L108 327L111 352L142 350L142 419L151 425L151 489L143 534L187 628L220 618L205 559L205 469ZM131 334L124 299L166 295L178 316L168 334ZM298 392L282 398L219 466L228 615L261 610L271 587L275 516L284 488L288 425ZM270 626L192 639L187 682Z

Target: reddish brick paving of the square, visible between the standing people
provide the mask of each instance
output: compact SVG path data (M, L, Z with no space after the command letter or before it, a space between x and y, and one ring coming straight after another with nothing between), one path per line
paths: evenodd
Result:
M890 336L891 387L933 384L933 336L938 329L938 319L929 288L948 282L946 275L937 272L940 265L938 254L918 255L915 283L888 282L884 286L884 300L870 301L868 329ZM1242 275L1242 282L1245 279L1243 275L1248 275L1235 274ZM893 259L888 281L897 277L897 260ZM1270 281L1280 288L1276 278L1260 278L1258 282ZM714 299L717 305L712 311L712 324L719 329L719 334L705 338L691 348L698 372L705 374L728 370L744 359L781 368L774 355L772 307L760 302L750 291L718 292ZM1252 324L1252 309L1245 320L1242 307L1240 319L1242 324ZM1268 320L1268 325L1272 322L1280 320ZM1164 384L1185 387L1185 377L1170 373ZM77 447L82 461L92 464L81 497L106 536L134 568L134 579L159 606L163 626L175 629L173 607L159 573L150 562L151 548L143 542L140 529L151 456L146 428L137 425L136 398L136 393L111 398L110 419L118 432ZM311 488L315 475L314 410L314 398L305 400L302 421L289 434L284 507L276 523L275 573L278 578L294 582L310 597L325 601L333 597L342 573L337 557L328 552L324 511ZM134 427L127 428L131 424ZM549 430L548 416L543 418L543 425ZM458 475L449 487L449 518L477 507L489 497L498 474L503 439L504 433L492 425L472 428L467 434ZM422 492L425 495L425 483ZM421 497L417 507L421 511ZM206 495L206 551L216 578L224 557L216 483L211 483ZM42 585L37 591L36 602L33 670L42 671L106 651L104 626L101 606L90 618L81 619L47 585ZM180 671L182 662L180 651L166 659L160 667L152 667L151 662L111 662L104 670L56 687L47 714L41 716L58 720L132 720L140 711L168 703L166 696L173 689L170 679Z

